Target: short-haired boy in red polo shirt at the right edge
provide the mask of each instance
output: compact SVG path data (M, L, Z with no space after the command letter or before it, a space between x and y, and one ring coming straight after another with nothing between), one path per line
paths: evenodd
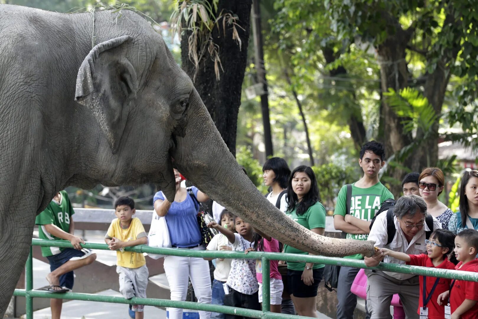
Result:
M460 261L456 270L478 273L478 231L466 229L455 237L455 255ZM449 298L448 298L449 297ZM478 283L473 281L452 280L450 289L438 296L438 303L448 300L445 306L445 318L478 318ZM451 313L451 316L450 316Z

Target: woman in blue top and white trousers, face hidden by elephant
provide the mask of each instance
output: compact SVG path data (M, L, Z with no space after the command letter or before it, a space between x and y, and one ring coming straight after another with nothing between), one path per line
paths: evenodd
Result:
M174 170L176 181L176 195L174 202L169 202L159 191L154 195L154 211L158 216L166 217L171 245L175 248L204 250L201 232L196 215L198 204L188 194L186 188L181 187L181 176ZM205 202L209 197L192 187L193 194L199 202ZM197 301L205 304L211 303L211 277L209 263L202 258L165 256L164 272L171 289L171 300L185 301L189 278L193 284ZM169 319L182 319L183 309L169 308ZM199 311L199 318L209 319L210 312Z

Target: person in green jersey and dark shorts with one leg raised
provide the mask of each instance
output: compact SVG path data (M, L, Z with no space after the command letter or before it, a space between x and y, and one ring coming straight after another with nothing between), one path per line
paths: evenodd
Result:
M55 195L50 204L35 220L38 225L40 239L64 239L70 241L73 248L43 247L42 255L50 263L50 271L46 280L50 286L40 289L51 293L68 292L73 288L73 270L93 263L96 253L82 249L80 243L85 243L74 235L75 224L72 215L75 213L66 191L62 190ZM62 299L50 299L52 319L60 319Z

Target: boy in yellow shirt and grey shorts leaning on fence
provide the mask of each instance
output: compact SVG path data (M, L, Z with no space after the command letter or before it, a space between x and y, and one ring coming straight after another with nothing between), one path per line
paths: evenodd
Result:
M110 250L116 250L116 272L120 275L120 292L126 299L146 298L148 267L142 253L126 252L124 247L148 243L148 236L136 212L134 200L123 196L115 201L115 218L109 225L105 242ZM135 319L143 319L144 306L133 305Z

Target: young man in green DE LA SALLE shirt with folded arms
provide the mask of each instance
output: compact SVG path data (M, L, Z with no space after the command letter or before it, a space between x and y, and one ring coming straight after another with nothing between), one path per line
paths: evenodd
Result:
M364 175L352 184L350 207L347 207L347 186L343 186L338 193L334 227L347 233L348 239L366 241L370 221L379 211L380 204L386 199L393 198L391 192L379 181L379 171L385 165L383 145L375 141L365 143L360 150L359 165ZM344 258L362 259L360 254ZM337 319L353 319L357 296L350 292L350 287L358 272L359 268L340 267ZM368 311L366 318L370 318Z

